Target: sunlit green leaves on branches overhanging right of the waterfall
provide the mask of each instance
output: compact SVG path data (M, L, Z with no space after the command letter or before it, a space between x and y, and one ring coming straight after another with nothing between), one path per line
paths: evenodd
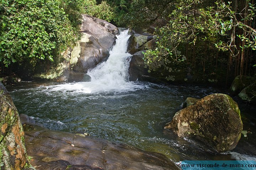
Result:
M145 53L145 58L150 61L149 64L154 63L155 67L160 65L168 69L168 63L180 61L179 47L184 44L195 45L198 39L214 44L221 51L229 50L232 55L238 55L239 51L249 47L256 50L256 30L250 26L250 24L254 25L251 20L256 16L255 4L247 4L248 10L241 12L246 12L246 15L233 11L235 8L232 7L233 4L225 3L223 0L217 0L215 3L202 1L202 4L201 1L185 0L175 5L176 8L172 10L169 22L156 32L159 35L156 49ZM241 18L242 16L244 18ZM245 35L235 37L238 29L243 30ZM236 45L237 38L243 43ZM233 53L231 48L236 49L236 53Z

